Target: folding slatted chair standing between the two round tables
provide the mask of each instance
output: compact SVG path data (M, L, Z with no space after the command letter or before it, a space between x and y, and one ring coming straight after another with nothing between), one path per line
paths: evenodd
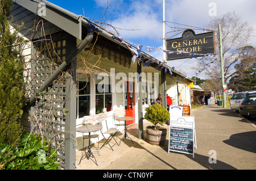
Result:
M114 136L115 136L115 134L117 134L117 133L119 132L119 130L116 129L116 128L108 128L108 121L106 120L106 113L100 113L100 114L98 114L98 116L99 116L100 122L106 121L106 128L108 129L107 131L105 131L104 133L102 133L102 136L105 138L104 134L109 134L108 139L105 138L106 141L105 141L104 144L101 146L101 148L102 148L104 145L109 144L109 142L112 140L112 138L114 139L115 143L118 145L118 142L115 140ZM114 144L114 145L115 145L115 144ZM114 146L114 145L112 145L112 146ZM114 151L113 148L112 148L112 146L111 146L110 144L109 144L109 146L110 146L110 148L112 149L112 151ZM119 145L118 145L118 146L119 146ZM101 149L101 148L100 148L100 149Z

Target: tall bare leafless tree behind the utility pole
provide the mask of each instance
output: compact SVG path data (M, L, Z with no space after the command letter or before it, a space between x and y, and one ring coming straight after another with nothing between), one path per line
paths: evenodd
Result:
M244 51L243 48L246 47L250 40L253 28L248 22L238 17L235 12L228 12L222 16L216 16L210 19L207 28L215 32L216 57L218 60L220 57L218 24L221 24L224 82L226 84L236 74L234 66L241 61ZM205 62L200 62L200 64L200 66L203 66ZM212 79L212 82L219 82L221 81L220 70L220 61L215 61L210 67L205 68L205 74L208 75L208 79Z

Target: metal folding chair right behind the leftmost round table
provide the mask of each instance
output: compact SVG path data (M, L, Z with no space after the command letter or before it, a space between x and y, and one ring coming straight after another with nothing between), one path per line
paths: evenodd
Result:
M84 120L82 121L82 125L92 125L92 124L100 124L100 120L98 115L92 115L92 116L84 116ZM97 132L93 132L93 134L90 134L90 138L98 138L98 147L99 147L99 134L98 131ZM88 139L89 140L89 135L84 135L82 134L82 148L84 149L84 140ZM94 144L95 145L95 144ZM88 145L89 146L89 145ZM87 147L87 146L86 146ZM100 156L100 149L98 149L98 147L94 147L92 149L96 149L98 155ZM96 152L94 151L94 153Z

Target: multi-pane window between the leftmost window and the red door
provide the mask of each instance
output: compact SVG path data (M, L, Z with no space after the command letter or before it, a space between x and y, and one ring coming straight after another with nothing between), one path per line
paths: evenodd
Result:
M96 114L112 110L110 77L96 75Z

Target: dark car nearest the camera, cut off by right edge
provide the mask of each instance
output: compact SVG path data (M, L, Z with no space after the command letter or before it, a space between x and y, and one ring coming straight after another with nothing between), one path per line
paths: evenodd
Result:
M239 113L243 116L256 116L256 94L247 95L239 108Z

